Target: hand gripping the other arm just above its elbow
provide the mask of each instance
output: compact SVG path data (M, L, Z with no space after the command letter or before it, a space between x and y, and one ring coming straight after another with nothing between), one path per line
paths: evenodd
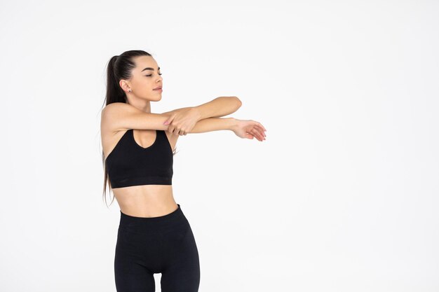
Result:
M169 125L168 131L173 134L186 135L191 132L195 124L200 120L200 113L194 107L176 109L166 120L164 125Z

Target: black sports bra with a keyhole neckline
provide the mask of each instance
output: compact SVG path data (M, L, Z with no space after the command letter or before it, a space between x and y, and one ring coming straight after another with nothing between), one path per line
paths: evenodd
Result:
M173 150L165 130L156 130L156 140L147 148L137 144L133 129L127 130L105 165L112 188L173 184Z

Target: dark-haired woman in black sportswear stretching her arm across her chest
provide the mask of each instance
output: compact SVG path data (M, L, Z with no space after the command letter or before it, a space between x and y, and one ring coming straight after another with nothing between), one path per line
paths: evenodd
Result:
M173 197L173 155L178 137L232 130L238 137L265 139L253 120L218 118L234 113L237 97L200 106L151 113L161 100L163 78L154 58L130 50L109 61L106 106L101 115L104 196L107 179L120 207L114 257L118 292L198 291L200 265L191 226Z

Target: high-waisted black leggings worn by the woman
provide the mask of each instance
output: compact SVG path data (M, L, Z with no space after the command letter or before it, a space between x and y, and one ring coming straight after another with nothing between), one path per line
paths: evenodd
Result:
M197 292L198 249L180 204L170 214L134 217L123 214L117 234L114 276L118 292L154 292L161 273L162 292Z

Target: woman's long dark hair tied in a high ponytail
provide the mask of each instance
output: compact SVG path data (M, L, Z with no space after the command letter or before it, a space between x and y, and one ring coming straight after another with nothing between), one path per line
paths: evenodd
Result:
M104 105L107 106L114 102L127 102L126 93L122 90L119 85L121 79L131 78L131 72L135 68L136 64L134 62L135 57L140 56L151 56L151 54L145 52L144 50L127 50L119 56L112 57L108 62L107 67L107 94L105 95ZM102 105L102 109L104 108ZM173 151L175 155L176 151ZM109 189L112 190L112 185L108 179L108 171L105 166L105 155L102 150L102 167L104 167L104 190L103 197L105 204L107 204L107 185ZM114 200L114 197L113 197ZM112 200L112 202L113 202ZM112 204L110 203L110 205Z

